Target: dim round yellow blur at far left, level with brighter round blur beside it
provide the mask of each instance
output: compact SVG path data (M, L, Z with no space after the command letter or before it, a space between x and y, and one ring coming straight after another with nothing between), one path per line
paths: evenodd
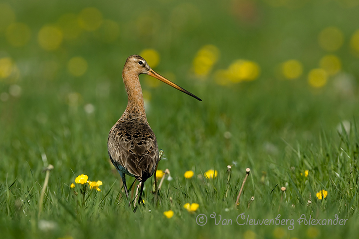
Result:
M15 47L24 46L31 38L31 30L24 23L11 23L5 32L6 40Z

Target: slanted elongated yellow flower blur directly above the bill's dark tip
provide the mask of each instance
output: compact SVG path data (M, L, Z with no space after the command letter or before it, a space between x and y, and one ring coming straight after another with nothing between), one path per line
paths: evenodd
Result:
M219 58L219 50L214 45L203 46L193 59L193 71L198 77L205 77L208 75L213 65Z

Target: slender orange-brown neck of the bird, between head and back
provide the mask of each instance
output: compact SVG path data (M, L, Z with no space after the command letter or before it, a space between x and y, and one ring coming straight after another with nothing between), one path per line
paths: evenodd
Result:
M131 72L123 71L122 78L124 80L128 99L125 113L135 114L146 118L145 103L143 100L139 76L137 74L132 74Z

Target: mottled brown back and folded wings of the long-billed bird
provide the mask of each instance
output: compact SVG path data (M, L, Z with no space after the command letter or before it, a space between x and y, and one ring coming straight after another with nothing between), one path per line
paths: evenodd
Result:
M157 139L146 119L121 117L111 128L107 140L112 163L121 171L145 182L159 161Z

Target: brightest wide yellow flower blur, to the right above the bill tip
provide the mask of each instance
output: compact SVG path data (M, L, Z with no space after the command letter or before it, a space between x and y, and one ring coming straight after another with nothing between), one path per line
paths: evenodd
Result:
M253 61L236 60L228 68L232 82L253 81L258 78L260 73L259 65Z

